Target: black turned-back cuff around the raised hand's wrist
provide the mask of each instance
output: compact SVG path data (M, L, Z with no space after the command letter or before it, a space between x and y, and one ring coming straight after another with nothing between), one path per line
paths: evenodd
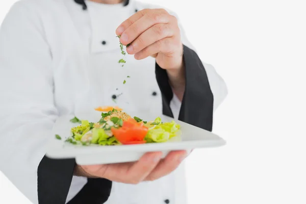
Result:
M207 131L213 127L214 96L207 73L198 55L184 45L186 87L179 120ZM156 63L156 79L162 92L163 114L173 117L170 101L173 97L167 71Z

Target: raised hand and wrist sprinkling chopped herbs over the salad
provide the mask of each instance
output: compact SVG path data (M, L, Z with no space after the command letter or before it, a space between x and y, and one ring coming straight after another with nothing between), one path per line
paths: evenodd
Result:
M175 16L164 9L144 9L122 22L116 30L127 53L135 59L154 57L167 70L170 84L182 99L185 91L185 66L180 28Z

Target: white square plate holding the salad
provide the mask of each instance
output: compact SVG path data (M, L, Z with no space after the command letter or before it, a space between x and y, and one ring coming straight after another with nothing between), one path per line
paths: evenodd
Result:
M89 120L89 122L97 122L101 118L100 112L85 113L82 120ZM132 117L137 116L143 120L154 120L157 116L152 114L137 113L131 114ZM225 141L219 136L200 129L196 126L187 124L182 121L175 121L181 125L181 138L172 138L171 141L165 143L148 143L136 145L117 145L117 146L82 146L72 145L64 142L70 136L71 127L77 126L77 123L71 123L69 120L73 118L72 115L59 117L53 129L53 136L48 143L48 150L46 155L53 159L67 159L75 158L80 165L92 164L110 164L121 162L137 161L140 157L149 151L162 151L164 157L171 150L187 150L205 147L219 147L225 145ZM161 116L163 122L170 122L173 118ZM55 138L58 134L62 140Z

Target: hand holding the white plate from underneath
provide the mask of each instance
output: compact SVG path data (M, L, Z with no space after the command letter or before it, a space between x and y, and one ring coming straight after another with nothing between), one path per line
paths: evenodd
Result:
M148 152L137 162L83 165L75 168L74 175L104 178L125 184L154 181L175 170L187 157L186 151L172 151L161 159L162 152Z

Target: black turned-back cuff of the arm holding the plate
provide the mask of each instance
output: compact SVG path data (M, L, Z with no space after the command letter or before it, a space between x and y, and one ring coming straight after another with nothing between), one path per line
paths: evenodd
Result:
M75 166L74 159L50 159L44 157L38 166L38 203L65 204ZM88 179L83 189L69 204L103 204L111 193L112 182L106 179Z

